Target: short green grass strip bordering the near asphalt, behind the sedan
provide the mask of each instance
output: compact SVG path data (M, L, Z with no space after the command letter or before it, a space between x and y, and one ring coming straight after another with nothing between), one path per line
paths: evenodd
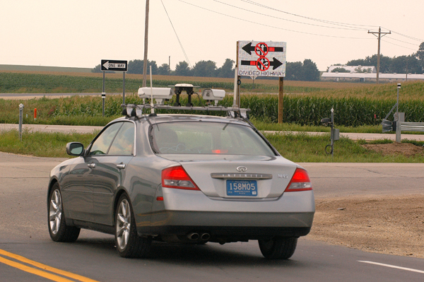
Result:
M66 143L78 141L88 146L98 132L93 134L64 134L24 131L22 141L18 131L1 131L0 151L34 155L38 157L69 158ZM298 134L264 134L283 157L296 163L423 163L424 155L406 157L404 155L382 155L370 151L360 143L341 138L334 145L334 156L327 155L324 148L330 143L329 134L311 136L305 132Z

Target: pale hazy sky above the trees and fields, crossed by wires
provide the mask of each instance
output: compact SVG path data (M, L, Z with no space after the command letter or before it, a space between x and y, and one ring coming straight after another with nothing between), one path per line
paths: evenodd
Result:
M2 0L0 64L93 68L143 59L146 0ZM320 71L424 42L423 0L150 0L148 59L236 60L237 41L286 42L286 60Z

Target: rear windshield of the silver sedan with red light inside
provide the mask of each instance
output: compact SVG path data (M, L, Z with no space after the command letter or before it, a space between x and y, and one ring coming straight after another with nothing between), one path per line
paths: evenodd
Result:
M161 154L275 155L251 127L221 122L155 124L151 144Z

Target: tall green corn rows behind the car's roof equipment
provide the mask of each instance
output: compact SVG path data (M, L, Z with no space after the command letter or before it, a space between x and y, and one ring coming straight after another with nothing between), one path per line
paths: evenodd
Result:
M137 95L127 95L129 104L141 104ZM170 101L172 104L175 101ZM180 100L182 105L187 102L187 95ZM193 98L195 106L203 105L198 99ZM310 96L285 95L283 99L283 122L301 125L319 125L324 117L331 116L334 108L334 122L347 127L360 125L381 124L382 119L391 110L395 100L370 100L367 98L317 98ZM278 121L278 97L276 95L242 95L241 107L249 108L250 117L266 122ZM407 100L399 103L399 110L406 112L406 121L424 122L424 102L420 100ZM105 116L112 117L122 112L122 97L119 95L108 96L105 101ZM232 96L227 96L220 105L231 107ZM166 112L159 110L158 113ZM182 113L184 111L180 111ZM102 114L102 100L98 97L73 97L59 99L59 105L53 116L98 116ZM223 112L210 112L209 114L222 115Z

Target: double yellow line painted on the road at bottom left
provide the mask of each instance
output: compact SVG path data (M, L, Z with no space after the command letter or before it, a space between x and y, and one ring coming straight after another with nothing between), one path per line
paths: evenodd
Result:
M71 281L71 280L66 279L64 277L61 277L61 276L66 276L66 277L69 277L71 279L75 279L75 280L82 281L82 282L98 282L98 281L95 281L93 279L90 279L90 278L87 278L87 277L84 277L84 276L81 276L81 275L78 275L78 274L73 274L71 272L64 271L64 270L61 270L61 269L55 269L52 266L47 266L45 264L40 264L40 262L34 262L34 261L32 261L30 259L27 259L25 257L22 257L22 256L20 256L18 254L12 254L11 252L6 252L3 249L0 249L0 254L1 255L4 255L6 257L11 257L12 259L16 259L16 260L18 260L20 262L24 262L25 264L33 265L33 266L35 266L35 267L37 267L39 269L35 269L33 267L26 266L25 264L20 264L18 262L13 262L13 261L11 261L9 259L5 259L4 257L0 257L0 262L2 262L4 264L8 264L9 266L13 266L13 267L15 267L17 269L20 269L20 270L29 272L31 274L42 276L42 277L47 278L47 279L50 279L52 281L57 281L57 282L68 282L68 281ZM43 269L45 271L40 270L40 269ZM50 271L50 272L53 272L54 274L59 274L61 276L57 276L57 275L54 275L54 274L49 274L46 271Z

